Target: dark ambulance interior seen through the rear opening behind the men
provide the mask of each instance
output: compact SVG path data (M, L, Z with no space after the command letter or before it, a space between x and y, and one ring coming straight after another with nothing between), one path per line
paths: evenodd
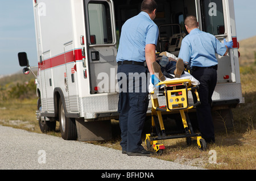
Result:
M138 0L114 0L117 39L121 35L125 21L141 11ZM195 1L191 0L159 0L154 22L159 28L158 52L170 52L179 55L181 41L187 35L184 19L187 15L196 16ZM119 41L118 41L119 42Z

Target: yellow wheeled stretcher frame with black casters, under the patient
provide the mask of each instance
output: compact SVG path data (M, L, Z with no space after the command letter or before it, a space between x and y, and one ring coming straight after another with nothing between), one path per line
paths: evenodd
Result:
M165 146L160 144L159 140L168 140L174 138L187 138L187 144L191 145L192 139L196 140L200 150L207 149L207 143L201 137L200 133L194 133L191 122L188 117L188 110L200 105L200 99L197 90L199 86L193 86L189 79L179 79L173 81L159 82L157 86L164 86L163 91L152 91L152 128L151 133L146 134L146 146L149 150L153 145L156 153L163 153ZM197 102L192 106L188 103L188 91L192 91L197 96ZM163 94L166 96L166 105L159 106L158 95ZM185 129L184 134L168 135L164 129L162 112L179 111L183 126ZM156 133L155 133L156 132ZM157 137L156 137L157 136Z

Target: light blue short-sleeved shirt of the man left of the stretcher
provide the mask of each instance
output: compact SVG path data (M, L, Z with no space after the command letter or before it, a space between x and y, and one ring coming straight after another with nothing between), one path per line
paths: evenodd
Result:
M117 61L144 62L147 44L157 44L158 26L146 12L128 19L122 26Z

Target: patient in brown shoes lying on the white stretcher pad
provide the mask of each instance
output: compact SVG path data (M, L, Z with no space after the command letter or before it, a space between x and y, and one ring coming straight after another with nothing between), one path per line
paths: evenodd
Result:
M167 60L168 58L168 60ZM155 72L156 77L161 81L172 81L177 79L189 79L191 80L192 85L200 85L200 82L197 81L191 74L187 71L184 71L184 62L181 59L178 59L174 54L163 52L159 54L159 57L156 58L156 62L152 63L152 68ZM159 88L162 88L162 85ZM154 91L155 87L150 81L148 86L148 91Z

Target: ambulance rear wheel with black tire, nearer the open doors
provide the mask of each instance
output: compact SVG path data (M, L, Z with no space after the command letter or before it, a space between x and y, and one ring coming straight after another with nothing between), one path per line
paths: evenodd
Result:
M65 116L64 106L61 99L59 102L59 121L61 137L64 140L76 140L76 120Z

